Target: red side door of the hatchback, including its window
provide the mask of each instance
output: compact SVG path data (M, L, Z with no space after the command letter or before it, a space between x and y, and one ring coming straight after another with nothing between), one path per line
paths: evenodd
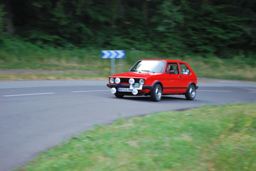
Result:
M165 72L165 80L163 82L163 94L175 94L186 92L184 84L182 83L182 77L180 74L180 68L178 63L167 63L170 65L171 70L174 73Z

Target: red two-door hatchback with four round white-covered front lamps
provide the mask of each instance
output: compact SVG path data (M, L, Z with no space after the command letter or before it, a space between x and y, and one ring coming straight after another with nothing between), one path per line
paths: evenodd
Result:
M197 77L188 63L176 60L143 59L130 71L109 77L108 87L116 97L150 95L159 101L162 95L183 94L193 100Z

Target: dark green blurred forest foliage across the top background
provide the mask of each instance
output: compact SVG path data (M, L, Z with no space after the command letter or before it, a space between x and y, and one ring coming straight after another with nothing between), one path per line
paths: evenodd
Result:
M256 1L13 0L6 5L15 16L16 35L40 48L135 48L221 58L252 56L256 49Z

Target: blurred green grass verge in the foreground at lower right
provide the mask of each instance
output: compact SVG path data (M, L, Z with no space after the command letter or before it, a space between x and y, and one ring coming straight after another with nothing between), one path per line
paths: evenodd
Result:
M256 170L256 104L206 106L95 125L19 171Z

